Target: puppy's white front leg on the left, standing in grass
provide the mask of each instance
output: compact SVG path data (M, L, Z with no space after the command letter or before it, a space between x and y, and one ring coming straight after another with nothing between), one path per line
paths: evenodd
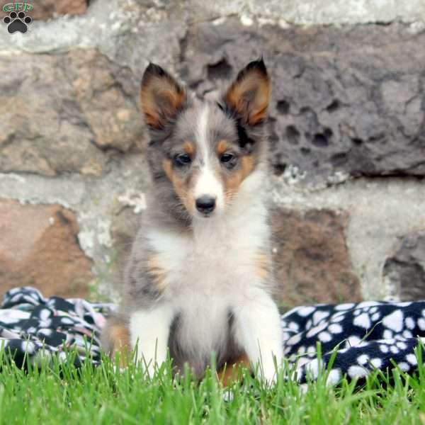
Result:
M130 316L130 341L132 348L137 347L137 361L147 365L152 378L155 365L166 361L174 311L167 302L158 302L150 308L137 310Z

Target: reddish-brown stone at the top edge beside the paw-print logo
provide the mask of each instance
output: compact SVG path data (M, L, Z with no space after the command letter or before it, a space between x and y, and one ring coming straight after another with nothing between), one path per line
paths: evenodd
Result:
M87 10L87 0L39 0L28 1L33 10L29 15L33 19L46 21L59 15L81 15ZM6 13L0 9L0 17Z

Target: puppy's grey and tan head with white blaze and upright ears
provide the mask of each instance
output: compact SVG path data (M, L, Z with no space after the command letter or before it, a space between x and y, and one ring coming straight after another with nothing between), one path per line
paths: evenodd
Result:
M225 212L265 160L270 91L263 60L242 69L217 102L189 98L170 74L149 64L140 97L162 208L186 221Z

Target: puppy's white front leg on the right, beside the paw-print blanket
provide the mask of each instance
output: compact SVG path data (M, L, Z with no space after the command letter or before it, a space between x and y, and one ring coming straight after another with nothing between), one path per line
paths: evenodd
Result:
M268 382L276 381L276 363L283 359L282 330L278 307L265 290L249 297L234 308L235 338L246 352L251 364L259 365L261 376Z

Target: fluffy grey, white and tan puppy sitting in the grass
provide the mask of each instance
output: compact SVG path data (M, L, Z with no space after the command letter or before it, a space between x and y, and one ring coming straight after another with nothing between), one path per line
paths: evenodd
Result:
M264 191L270 91L262 59L219 101L188 96L155 64L145 70L152 193L103 341L111 353L137 348L150 375L169 350L175 370L187 362L198 377L215 353L218 370L259 365L276 379L283 348Z

